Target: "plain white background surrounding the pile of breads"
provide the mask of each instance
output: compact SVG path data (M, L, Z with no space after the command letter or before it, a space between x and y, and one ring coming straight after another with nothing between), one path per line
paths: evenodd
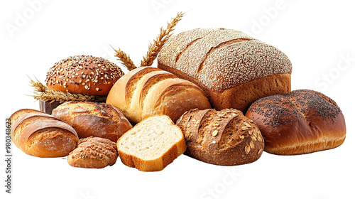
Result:
M37 2L37 3L35 3ZM233 3L231 3L233 2ZM354 5L351 1L1 1L0 193L5 198L355 198ZM139 65L148 43L178 11L175 34L232 28L282 50L293 63L292 89L334 99L346 140L329 151L214 166L185 155L161 172L143 173L118 159L103 169L72 168L65 158L36 158L12 147L12 193L5 193L5 118L39 109L29 78L45 80L54 63L94 55L114 63L121 48ZM156 61L154 63L156 66ZM1 196L3 198L3 196Z

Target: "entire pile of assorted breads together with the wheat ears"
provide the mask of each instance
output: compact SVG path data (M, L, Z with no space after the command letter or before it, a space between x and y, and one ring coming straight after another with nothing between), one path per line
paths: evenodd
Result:
M170 31L160 30L140 68L115 50L126 75L93 56L55 63L47 87L31 81L50 114L13 113L13 143L31 156L67 156L74 167L104 168L119 156L139 171L161 171L184 153L235 166L263 151L308 154L344 142L342 111L320 92L290 92L292 65L277 48L231 29ZM157 55L158 68L148 67Z

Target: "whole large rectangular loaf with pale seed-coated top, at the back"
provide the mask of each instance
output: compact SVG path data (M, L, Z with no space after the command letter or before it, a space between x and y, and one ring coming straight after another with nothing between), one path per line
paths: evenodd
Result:
M217 110L246 112L257 99L291 89L288 57L231 29L199 28L170 38L160 50L158 68L200 86Z

